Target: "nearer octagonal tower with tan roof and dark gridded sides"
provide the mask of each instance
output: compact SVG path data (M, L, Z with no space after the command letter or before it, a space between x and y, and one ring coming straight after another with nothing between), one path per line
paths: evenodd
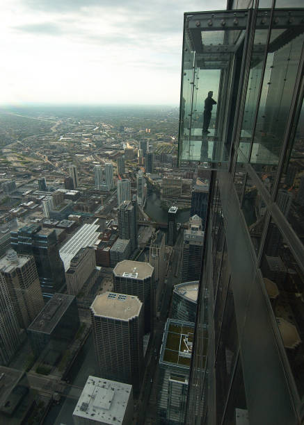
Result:
M90 306L102 378L133 385L143 378L143 304L134 295L105 292Z

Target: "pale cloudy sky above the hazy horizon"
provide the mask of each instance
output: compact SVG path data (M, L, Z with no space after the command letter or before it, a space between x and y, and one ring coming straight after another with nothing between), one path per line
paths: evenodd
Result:
M225 0L1 0L0 103L178 104L183 13Z

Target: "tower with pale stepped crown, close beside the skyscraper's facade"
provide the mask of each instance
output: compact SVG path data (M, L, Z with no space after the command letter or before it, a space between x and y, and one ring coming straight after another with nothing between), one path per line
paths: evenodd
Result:
M202 219L193 215L189 219L189 228L184 231L182 281L198 281L202 265L202 249L204 247L204 232Z

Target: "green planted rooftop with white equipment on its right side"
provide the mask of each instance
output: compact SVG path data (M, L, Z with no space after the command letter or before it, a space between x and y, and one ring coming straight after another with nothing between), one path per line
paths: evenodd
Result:
M191 363L194 323L167 319L159 363L188 369Z

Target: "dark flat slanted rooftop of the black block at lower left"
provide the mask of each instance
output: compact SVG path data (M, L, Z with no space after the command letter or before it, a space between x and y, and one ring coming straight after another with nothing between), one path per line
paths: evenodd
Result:
M29 331L51 333L67 308L74 300L74 295L54 294L45 307L29 325Z

